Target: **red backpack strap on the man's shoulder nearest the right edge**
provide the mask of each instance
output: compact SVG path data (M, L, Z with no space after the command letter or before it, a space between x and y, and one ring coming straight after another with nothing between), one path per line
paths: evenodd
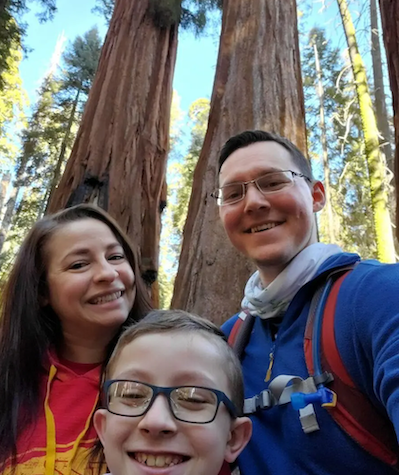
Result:
M322 314L321 365L334 380L329 388L337 394L335 407L327 410L340 427L361 447L388 465L398 463L398 444L392 423L381 414L370 399L353 382L338 351L335 338L335 309L340 287L349 271L337 278L328 295ZM314 312L309 314L305 331L305 359L309 374L313 374L312 356Z

